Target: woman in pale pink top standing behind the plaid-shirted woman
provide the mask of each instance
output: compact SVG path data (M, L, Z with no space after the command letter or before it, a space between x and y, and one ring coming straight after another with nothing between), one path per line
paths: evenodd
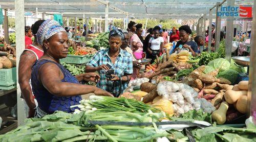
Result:
M142 24L136 25L136 34L133 34L130 39L131 49L137 60L142 58L143 54L143 43L141 42L139 36L142 34ZM138 36L139 35L139 36Z

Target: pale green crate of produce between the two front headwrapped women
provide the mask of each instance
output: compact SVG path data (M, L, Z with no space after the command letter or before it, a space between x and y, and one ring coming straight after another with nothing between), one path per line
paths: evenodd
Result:
M60 59L60 62L83 64L91 60L94 55L67 55L66 58Z

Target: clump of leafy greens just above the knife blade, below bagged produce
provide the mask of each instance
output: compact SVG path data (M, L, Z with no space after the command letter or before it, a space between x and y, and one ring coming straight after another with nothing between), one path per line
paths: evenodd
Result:
M180 115L182 119L190 119L190 120L197 120L197 121L205 121L212 124L211 121L211 114L204 113L203 109L199 110L189 110L186 113Z

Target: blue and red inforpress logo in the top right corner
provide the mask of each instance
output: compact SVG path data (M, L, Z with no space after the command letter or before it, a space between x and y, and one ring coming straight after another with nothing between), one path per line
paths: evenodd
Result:
M220 12L217 13L217 16L240 16L240 17L252 17L252 6L222 6Z

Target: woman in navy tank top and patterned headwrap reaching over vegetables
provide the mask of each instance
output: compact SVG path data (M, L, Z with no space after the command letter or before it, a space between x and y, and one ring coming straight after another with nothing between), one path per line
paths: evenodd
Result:
M44 49L42 56L33 66L31 82L33 93L38 102L37 117L52 114L56 110L73 112L71 105L79 104L80 94L112 96L105 90L95 86L81 85L80 81L97 81L95 73L72 76L59 63L59 59L67 57L68 34L57 21L46 20L39 27L37 42Z

